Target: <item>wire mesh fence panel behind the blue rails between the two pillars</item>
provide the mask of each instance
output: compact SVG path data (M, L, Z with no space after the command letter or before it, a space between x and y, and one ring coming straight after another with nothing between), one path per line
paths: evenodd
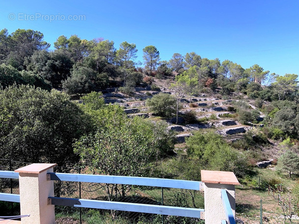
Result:
M74 168L54 168L54 171L67 170L79 173ZM54 181L55 194L60 197L85 198L104 201L120 201L127 203L168 205L190 208L204 208L204 197L199 191L147 187L121 184L78 183ZM63 219L80 219L80 209L66 206L56 206L58 222ZM82 223L107 224L203 224L198 218L156 215L128 211L104 209L81 209Z

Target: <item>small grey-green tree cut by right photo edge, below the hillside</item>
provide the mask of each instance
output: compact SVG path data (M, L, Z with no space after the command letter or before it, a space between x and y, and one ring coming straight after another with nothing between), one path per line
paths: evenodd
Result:
M287 150L277 160L278 168L289 173L291 178L292 173L299 172L299 155L291 150Z

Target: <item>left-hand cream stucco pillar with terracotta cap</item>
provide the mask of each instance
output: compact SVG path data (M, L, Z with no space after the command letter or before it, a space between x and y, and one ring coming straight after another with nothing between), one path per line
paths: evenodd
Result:
M48 197L54 196L54 181L47 181L47 172L53 172L57 164L31 164L16 169L19 173L22 224L55 224L54 205L48 205Z

